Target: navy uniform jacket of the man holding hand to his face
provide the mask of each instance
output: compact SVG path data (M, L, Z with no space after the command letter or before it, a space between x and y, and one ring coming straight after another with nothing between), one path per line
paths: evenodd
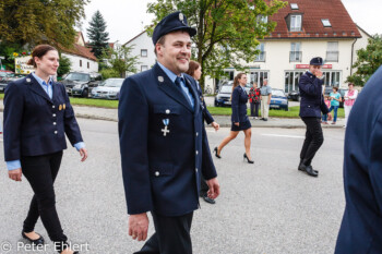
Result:
M322 96L323 81L310 72L306 72L298 84L300 89L300 117L321 118L321 112L327 113L329 109Z

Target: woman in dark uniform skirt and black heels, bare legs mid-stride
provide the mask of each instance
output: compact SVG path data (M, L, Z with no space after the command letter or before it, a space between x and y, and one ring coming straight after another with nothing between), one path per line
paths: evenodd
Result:
M247 162L253 164L253 160L251 160L251 153L250 153L252 133L251 133L251 122L249 121L247 116L248 95L244 89L246 84L247 84L247 74L239 73L234 80L232 96L231 96L232 126L230 129L229 136L224 138L220 145L215 147L214 152L215 152L215 156L217 158L220 158L220 153L223 147L225 147L230 141L235 140L240 131L243 131L246 135L246 138L244 138L246 153L243 155L243 158L247 159Z

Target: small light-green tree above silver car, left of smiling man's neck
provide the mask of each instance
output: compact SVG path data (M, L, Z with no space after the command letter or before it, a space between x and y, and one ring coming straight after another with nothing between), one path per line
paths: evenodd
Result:
M124 77L126 72L135 73L135 65L139 63L139 56L131 56L133 46L121 46L117 49L107 48L104 50L102 59L108 59L108 62L120 77Z

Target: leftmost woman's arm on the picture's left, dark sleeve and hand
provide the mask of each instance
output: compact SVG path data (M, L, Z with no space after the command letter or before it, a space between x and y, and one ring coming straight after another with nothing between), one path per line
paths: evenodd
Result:
M9 170L9 178L14 181L22 180L21 168L21 123L24 112L23 89L15 83L10 83L4 94L4 128L3 145L4 158Z

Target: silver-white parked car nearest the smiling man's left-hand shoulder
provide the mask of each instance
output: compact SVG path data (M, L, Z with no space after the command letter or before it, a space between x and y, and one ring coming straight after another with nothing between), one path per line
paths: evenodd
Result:
M124 78L107 78L92 90L92 98L119 99L119 90L121 89Z

